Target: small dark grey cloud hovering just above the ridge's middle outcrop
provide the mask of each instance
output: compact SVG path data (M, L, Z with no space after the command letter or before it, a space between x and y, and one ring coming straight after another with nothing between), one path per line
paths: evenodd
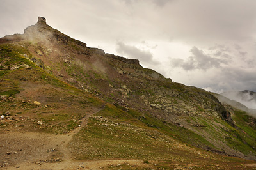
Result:
M138 49L132 45L125 45L122 42L118 42L116 51L120 54L127 55L129 58L139 59L146 65L159 65L159 62L153 59L153 55L149 51Z

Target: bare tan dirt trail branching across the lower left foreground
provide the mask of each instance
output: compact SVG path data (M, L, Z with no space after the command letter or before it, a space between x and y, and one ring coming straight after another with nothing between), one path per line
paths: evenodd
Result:
M113 164L143 164L142 160L77 161L68 143L88 123L88 118L104 109L89 112L79 127L68 134L11 132L0 134L0 169L102 169Z

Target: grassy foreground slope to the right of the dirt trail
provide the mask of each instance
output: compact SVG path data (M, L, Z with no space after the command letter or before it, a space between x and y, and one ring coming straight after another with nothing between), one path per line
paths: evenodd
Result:
M147 116L159 127L148 126L138 118L146 119L138 111L125 112L106 104L105 109L92 116L88 126L72 139L70 147L76 149L73 156L78 160L161 160L161 165L166 168L171 168L172 162L195 169L236 169L236 166L244 164L244 160L239 158L216 155L180 142L175 135L182 130L170 127L167 130L168 125L154 117Z

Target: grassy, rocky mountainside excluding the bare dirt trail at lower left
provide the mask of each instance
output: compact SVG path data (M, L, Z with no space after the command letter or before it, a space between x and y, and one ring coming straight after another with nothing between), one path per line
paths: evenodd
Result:
M68 143L79 160L171 160L170 155L176 153L168 150L172 153L168 155L162 150L172 148L168 140L177 143L175 147L182 144L184 150L175 150L189 160L187 147L256 158L256 124L246 113L241 116L241 111L221 104L203 89L172 82L143 68L137 59L87 47L48 26L44 17L38 17L23 35L0 38L0 49L0 108L14 118L1 120L3 134L23 130L65 135L83 125L88 112L104 105ZM252 121L250 126L241 118ZM150 145L154 146L152 150L145 150Z

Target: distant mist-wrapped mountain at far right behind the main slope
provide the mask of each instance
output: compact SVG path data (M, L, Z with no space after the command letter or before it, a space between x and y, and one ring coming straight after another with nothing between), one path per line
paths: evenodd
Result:
M226 91L221 95L231 100L236 100L248 108L256 109L256 93L253 91Z

